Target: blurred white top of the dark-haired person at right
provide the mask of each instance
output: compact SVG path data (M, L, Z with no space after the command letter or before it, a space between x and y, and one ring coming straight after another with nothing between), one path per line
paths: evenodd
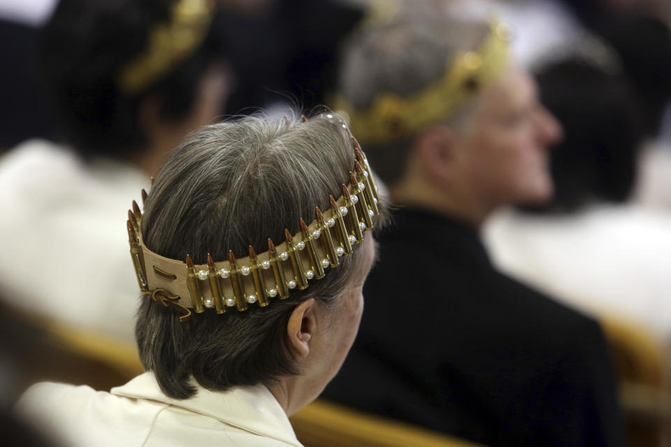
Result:
M574 216L504 210L484 226L501 270L595 316L671 341L671 213L600 205Z

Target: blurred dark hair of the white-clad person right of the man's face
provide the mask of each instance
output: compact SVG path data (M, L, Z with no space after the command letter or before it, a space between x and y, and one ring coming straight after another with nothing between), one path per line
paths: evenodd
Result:
M564 138L550 152L554 198L535 209L571 212L591 202L626 200L644 136L637 97L626 81L582 60L548 66L537 81Z

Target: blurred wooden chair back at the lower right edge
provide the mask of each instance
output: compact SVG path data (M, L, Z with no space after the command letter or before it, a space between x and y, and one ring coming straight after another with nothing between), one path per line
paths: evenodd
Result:
M630 447L671 442L669 358L644 328L621 318L601 319L612 352Z

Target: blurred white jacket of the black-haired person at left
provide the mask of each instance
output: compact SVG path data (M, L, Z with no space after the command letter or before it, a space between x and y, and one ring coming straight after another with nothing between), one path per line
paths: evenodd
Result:
M140 300L127 213L149 177L32 140L0 159L0 295L28 312L134 343Z

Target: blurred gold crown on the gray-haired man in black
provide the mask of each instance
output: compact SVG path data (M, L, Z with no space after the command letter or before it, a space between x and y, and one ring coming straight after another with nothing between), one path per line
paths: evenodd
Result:
M491 32L478 51L463 52L447 61L445 75L421 91L407 97L382 92L366 110L357 110L338 95L333 109L349 115L352 132L366 144L410 136L449 117L495 80L507 63L510 31L496 20L490 26Z

